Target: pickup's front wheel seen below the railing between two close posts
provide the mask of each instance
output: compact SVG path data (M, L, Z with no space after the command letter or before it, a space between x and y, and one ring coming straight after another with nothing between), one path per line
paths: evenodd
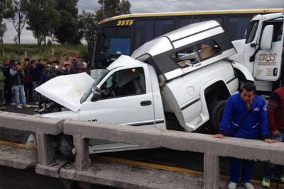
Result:
M59 134L56 137L56 143L59 153L66 159L75 159L75 155L72 153L74 148L73 137L66 134Z

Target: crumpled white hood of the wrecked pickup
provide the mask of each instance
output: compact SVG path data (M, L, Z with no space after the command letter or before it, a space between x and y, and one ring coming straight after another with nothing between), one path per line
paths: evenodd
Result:
M86 73L57 76L35 88L35 91L74 112L80 109L80 99L94 79Z

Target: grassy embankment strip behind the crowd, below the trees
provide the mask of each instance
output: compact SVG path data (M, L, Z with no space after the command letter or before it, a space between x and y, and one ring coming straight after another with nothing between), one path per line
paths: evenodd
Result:
M54 55L52 55L53 49ZM3 50L4 58L2 58L3 55L0 55L0 59L19 59L20 61L25 58L25 52L27 57L31 59L49 59L50 61L58 60L60 62L70 57L80 59L87 57L86 45L43 45L39 54L37 44L22 44L20 57L18 57L17 44L4 44Z

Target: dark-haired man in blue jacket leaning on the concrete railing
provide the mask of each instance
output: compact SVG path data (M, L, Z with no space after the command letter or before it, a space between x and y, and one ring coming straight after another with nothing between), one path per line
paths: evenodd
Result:
M256 86L246 83L241 93L234 94L226 103L219 134L213 138L222 139L224 136L244 139L263 139L273 143L268 130L266 101L256 95ZM253 189L250 183L253 161L231 158L229 189L236 188L241 183L245 188ZM241 174L242 173L242 174Z

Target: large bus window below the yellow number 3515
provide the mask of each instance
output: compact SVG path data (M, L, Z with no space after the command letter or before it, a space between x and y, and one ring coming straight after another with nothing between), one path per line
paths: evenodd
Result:
M102 27L102 34L98 36L97 61L100 67L107 67L120 55L130 55L131 28L130 27Z

